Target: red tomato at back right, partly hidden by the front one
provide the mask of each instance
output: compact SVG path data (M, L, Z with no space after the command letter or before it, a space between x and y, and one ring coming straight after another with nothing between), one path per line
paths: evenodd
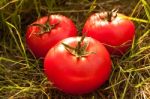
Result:
M110 54L121 55L131 46L135 27L122 14L101 12L87 19L82 32L103 43Z

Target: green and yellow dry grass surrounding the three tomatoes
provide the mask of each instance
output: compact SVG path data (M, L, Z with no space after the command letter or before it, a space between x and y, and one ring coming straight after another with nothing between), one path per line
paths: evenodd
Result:
M27 25L48 12L60 13L80 32L91 13L114 7L136 25L131 49L121 58L112 56L111 77L96 91L81 96L58 91L43 74L43 62L26 47ZM148 0L0 0L0 99L150 99Z

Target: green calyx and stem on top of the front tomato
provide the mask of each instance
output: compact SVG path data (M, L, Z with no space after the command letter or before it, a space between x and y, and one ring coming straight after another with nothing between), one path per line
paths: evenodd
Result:
M84 38L85 38L85 36L82 36L82 37L81 37L81 40L78 41L76 47L71 47L71 46L69 46L69 45L67 45L67 44L65 44L65 43L62 43L62 44L65 46L65 48L66 48L66 50L67 50L68 52L70 52L72 55L76 56L77 58L85 57L85 56L88 56L88 55L90 55L90 54L93 54L94 52L87 52L87 51L86 51L86 49L87 49L89 43L88 43L88 42L85 42L85 43L82 45L82 43L83 43L83 41L84 41Z

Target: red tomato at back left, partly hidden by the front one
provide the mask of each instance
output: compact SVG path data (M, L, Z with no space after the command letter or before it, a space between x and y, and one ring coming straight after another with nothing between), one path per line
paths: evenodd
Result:
M77 35L71 19L63 15L44 16L28 26L26 43L36 57L44 57L60 40Z

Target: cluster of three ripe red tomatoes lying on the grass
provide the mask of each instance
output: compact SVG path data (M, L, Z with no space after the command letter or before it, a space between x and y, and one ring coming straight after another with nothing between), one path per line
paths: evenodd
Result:
M44 73L59 90L85 94L104 84L111 74L111 55L122 55L131 46L135 27L117 12L92 14L77 36L73 21L53 14L27 28L26 43L44 58Z

